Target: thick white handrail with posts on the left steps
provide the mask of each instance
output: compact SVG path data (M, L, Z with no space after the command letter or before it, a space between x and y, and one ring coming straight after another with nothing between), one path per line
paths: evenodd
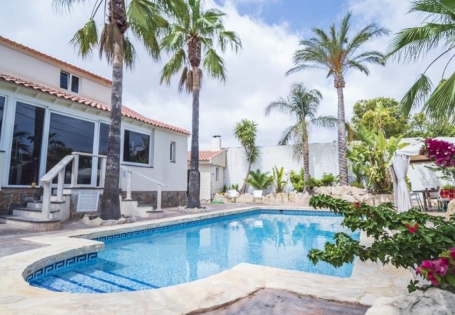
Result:
M41 184L43 185L43 207L41 209L41 217L43 219L50 218L50 197L52 195L52 181L57 177L57 200L63 201L63 186L64 175L66 166L73 162L73 169L71 172L71 188L78 186L78 172L79 172L79 156L89 156L92 158L101 158L101 170L99 172L99 188L104 187L104 174L106 174L106 155L98 155L83 152L73 152L71 155L66 155L60 160L49 172L41 177ZM96 166L95 166L96 165ZM92 167L98 168L98 163L92 162ZM97 186L96 181L94 186Z

